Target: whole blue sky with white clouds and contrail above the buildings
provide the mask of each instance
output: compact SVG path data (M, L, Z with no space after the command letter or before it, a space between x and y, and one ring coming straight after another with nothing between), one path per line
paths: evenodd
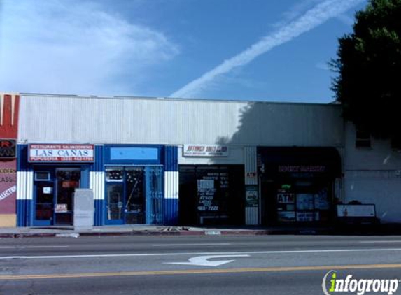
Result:
M0 0L0 92L329 103L367 0Z

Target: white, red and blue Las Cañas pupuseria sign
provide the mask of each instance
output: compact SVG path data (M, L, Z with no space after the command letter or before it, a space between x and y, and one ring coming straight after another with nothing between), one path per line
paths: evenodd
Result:
M29 145L30 162L93 162L94 145Z

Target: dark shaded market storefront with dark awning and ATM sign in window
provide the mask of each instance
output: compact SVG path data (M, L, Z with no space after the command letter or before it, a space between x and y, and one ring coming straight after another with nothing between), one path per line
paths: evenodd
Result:
M334 147L258 147L262 224L328 223L341 161Z

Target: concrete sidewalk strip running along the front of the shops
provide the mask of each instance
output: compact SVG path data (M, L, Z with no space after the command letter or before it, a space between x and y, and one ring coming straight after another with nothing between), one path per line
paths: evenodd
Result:
M73 226L0 228L0 238L63 237L63 236L227 236L227 235L353 235L393 236L401 235L401 224L349 225L346 226L159 226L122 225L94 226L79 229Z

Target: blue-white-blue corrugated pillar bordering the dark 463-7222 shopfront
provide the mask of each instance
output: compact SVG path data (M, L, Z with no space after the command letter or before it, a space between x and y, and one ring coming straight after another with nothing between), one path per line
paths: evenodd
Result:
M178 147L164 147L164 224L178 224Z

